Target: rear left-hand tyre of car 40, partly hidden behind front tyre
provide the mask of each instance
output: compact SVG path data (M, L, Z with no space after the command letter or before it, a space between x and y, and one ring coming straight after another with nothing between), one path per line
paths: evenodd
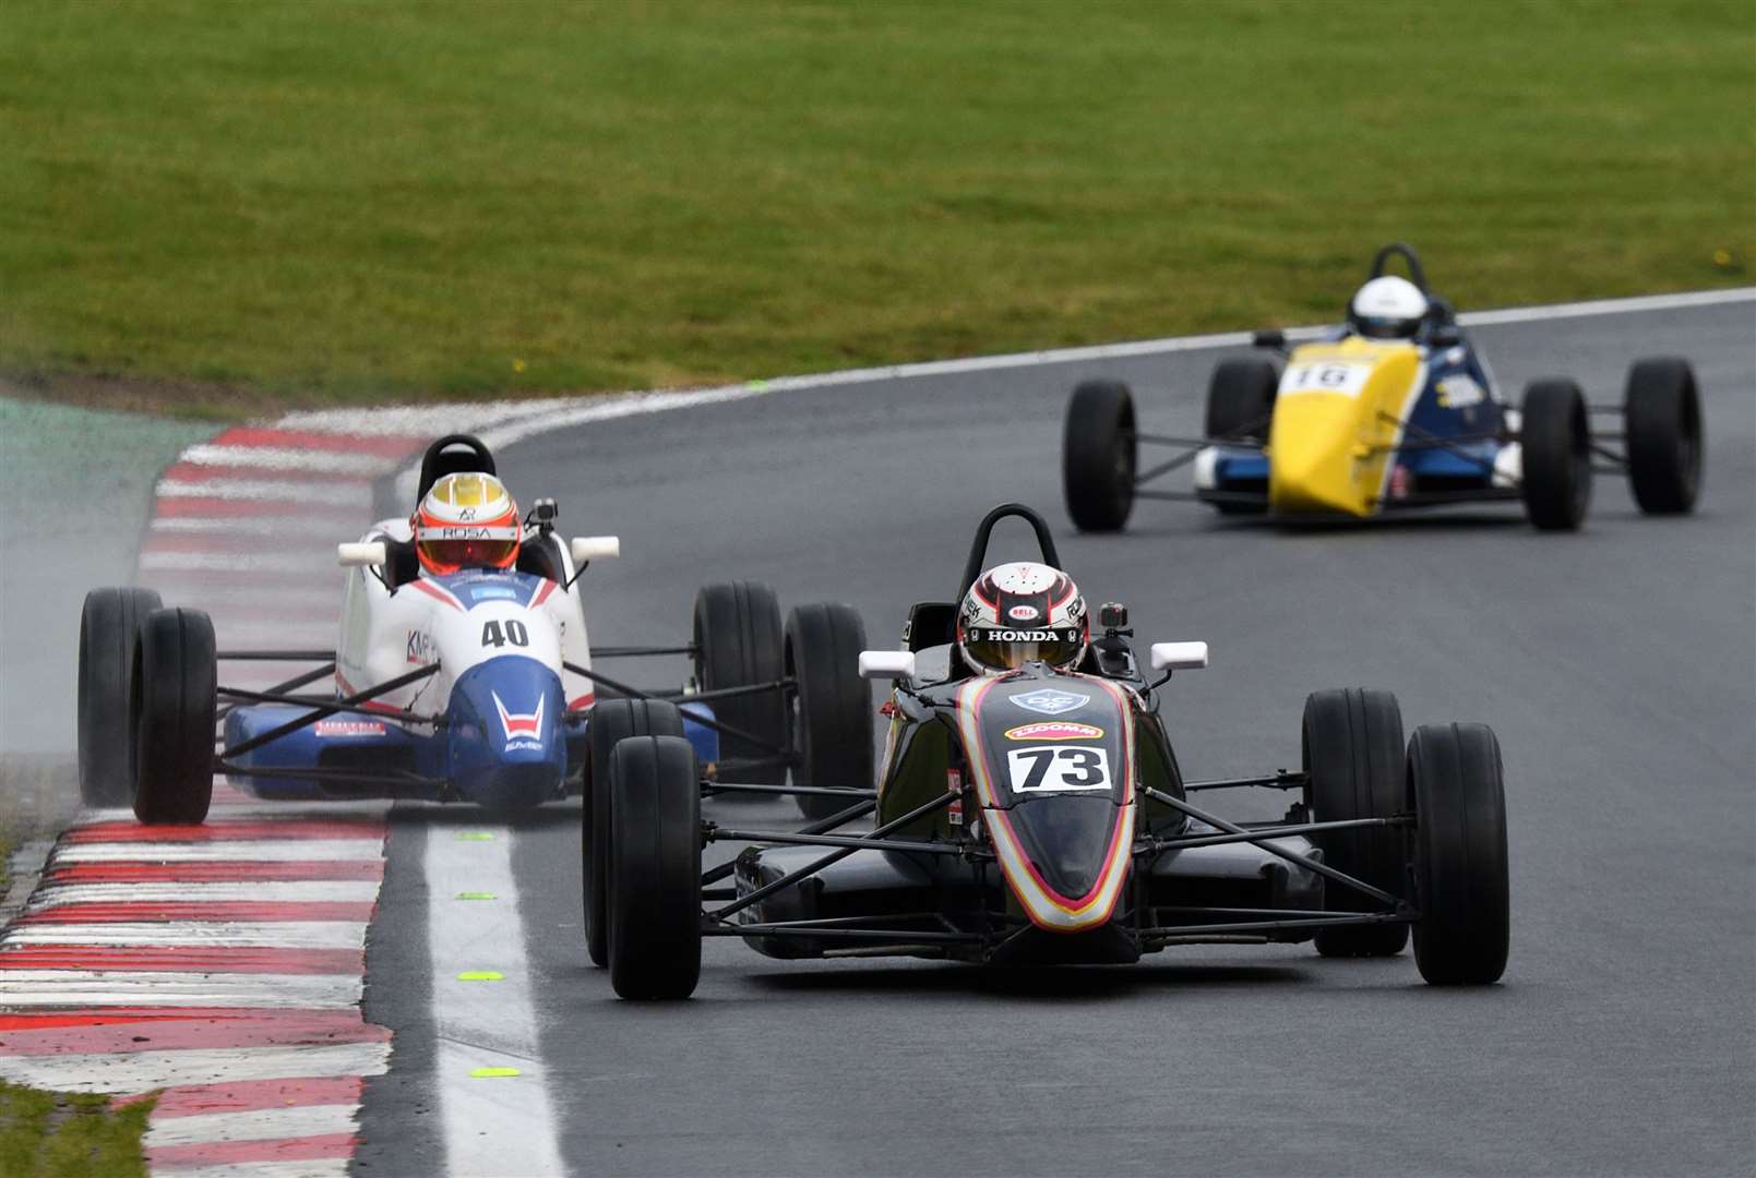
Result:
M158 609L144 588L98 588L79 611L79 802L126 806L133 801L128 702L133 646L140 623Z

